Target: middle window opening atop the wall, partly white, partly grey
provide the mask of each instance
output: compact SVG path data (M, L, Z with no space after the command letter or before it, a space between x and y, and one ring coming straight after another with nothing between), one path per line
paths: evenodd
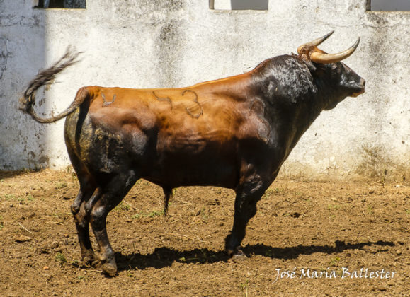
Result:
M210 0L210 9L218 11L267 11L269 0Z

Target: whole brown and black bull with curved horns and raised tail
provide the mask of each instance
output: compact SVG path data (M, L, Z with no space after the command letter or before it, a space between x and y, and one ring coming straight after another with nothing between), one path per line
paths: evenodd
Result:
M21 109L40 123L66 117L64 139L79 179L71 206L81 258L105 274L117 273L106 217L137 180L164 190L164 213L173 188L233 189L234 223L225 239L241 257L246 225L256 203L278 175L292 148L322 110L365 91L365 80L341 62L358 47L327 54L317 47L333 31L237 76L188 88L80 88L62 113L40 117L35 93L76 63L68 50L30 82ZM96 257L89 224L100 248Z

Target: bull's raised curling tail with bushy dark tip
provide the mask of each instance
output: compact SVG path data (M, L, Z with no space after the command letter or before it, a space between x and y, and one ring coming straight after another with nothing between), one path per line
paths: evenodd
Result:
M23 97L20 98L20 109L23 110L23 112L27 112L31 117L33 117L34 120L40 123L56 122L74 112L74 110L76 110L76 108L79 107L81 103L83 103L86 99L87 96L84 95L84 92L77 93L76 98L74 99L72 104L69 105L66 110L56 116L39 117L33 107L35 105L35 93L38 88L52 84L52 80L57 74L59 74L59 72L66 69L68 66L79 62L79 60L77 59L79 54L81 54L81 52L72 52L71 48L68 47L67 52L61 59L59 59L50 68L40 71L40 73L35 76L33 81L30 81L30 84L25 90Z

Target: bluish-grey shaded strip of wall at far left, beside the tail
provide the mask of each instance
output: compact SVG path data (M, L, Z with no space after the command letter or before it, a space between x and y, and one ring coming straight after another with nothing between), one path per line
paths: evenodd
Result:
M0 170L46 166L44 133L18 112L18 96L45 67L45 13L33 1L0 1L0 20Z

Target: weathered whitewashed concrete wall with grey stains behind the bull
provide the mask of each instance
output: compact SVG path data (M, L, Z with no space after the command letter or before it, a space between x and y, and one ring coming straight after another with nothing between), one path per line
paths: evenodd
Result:
M249 71L324 35L328 52L362 37L346 59L367 92L323 112L285 163L287 175L399 178L410 172L410 13L366 12L367 0L269 1L268 11L215 11L204 0L87 0L86 9L33 9L0 0L0 169L69 164L63 122L37 124L17 110L40 68L67 45L81 63L38 92L38 110L62 110L86 85L189 86Z

